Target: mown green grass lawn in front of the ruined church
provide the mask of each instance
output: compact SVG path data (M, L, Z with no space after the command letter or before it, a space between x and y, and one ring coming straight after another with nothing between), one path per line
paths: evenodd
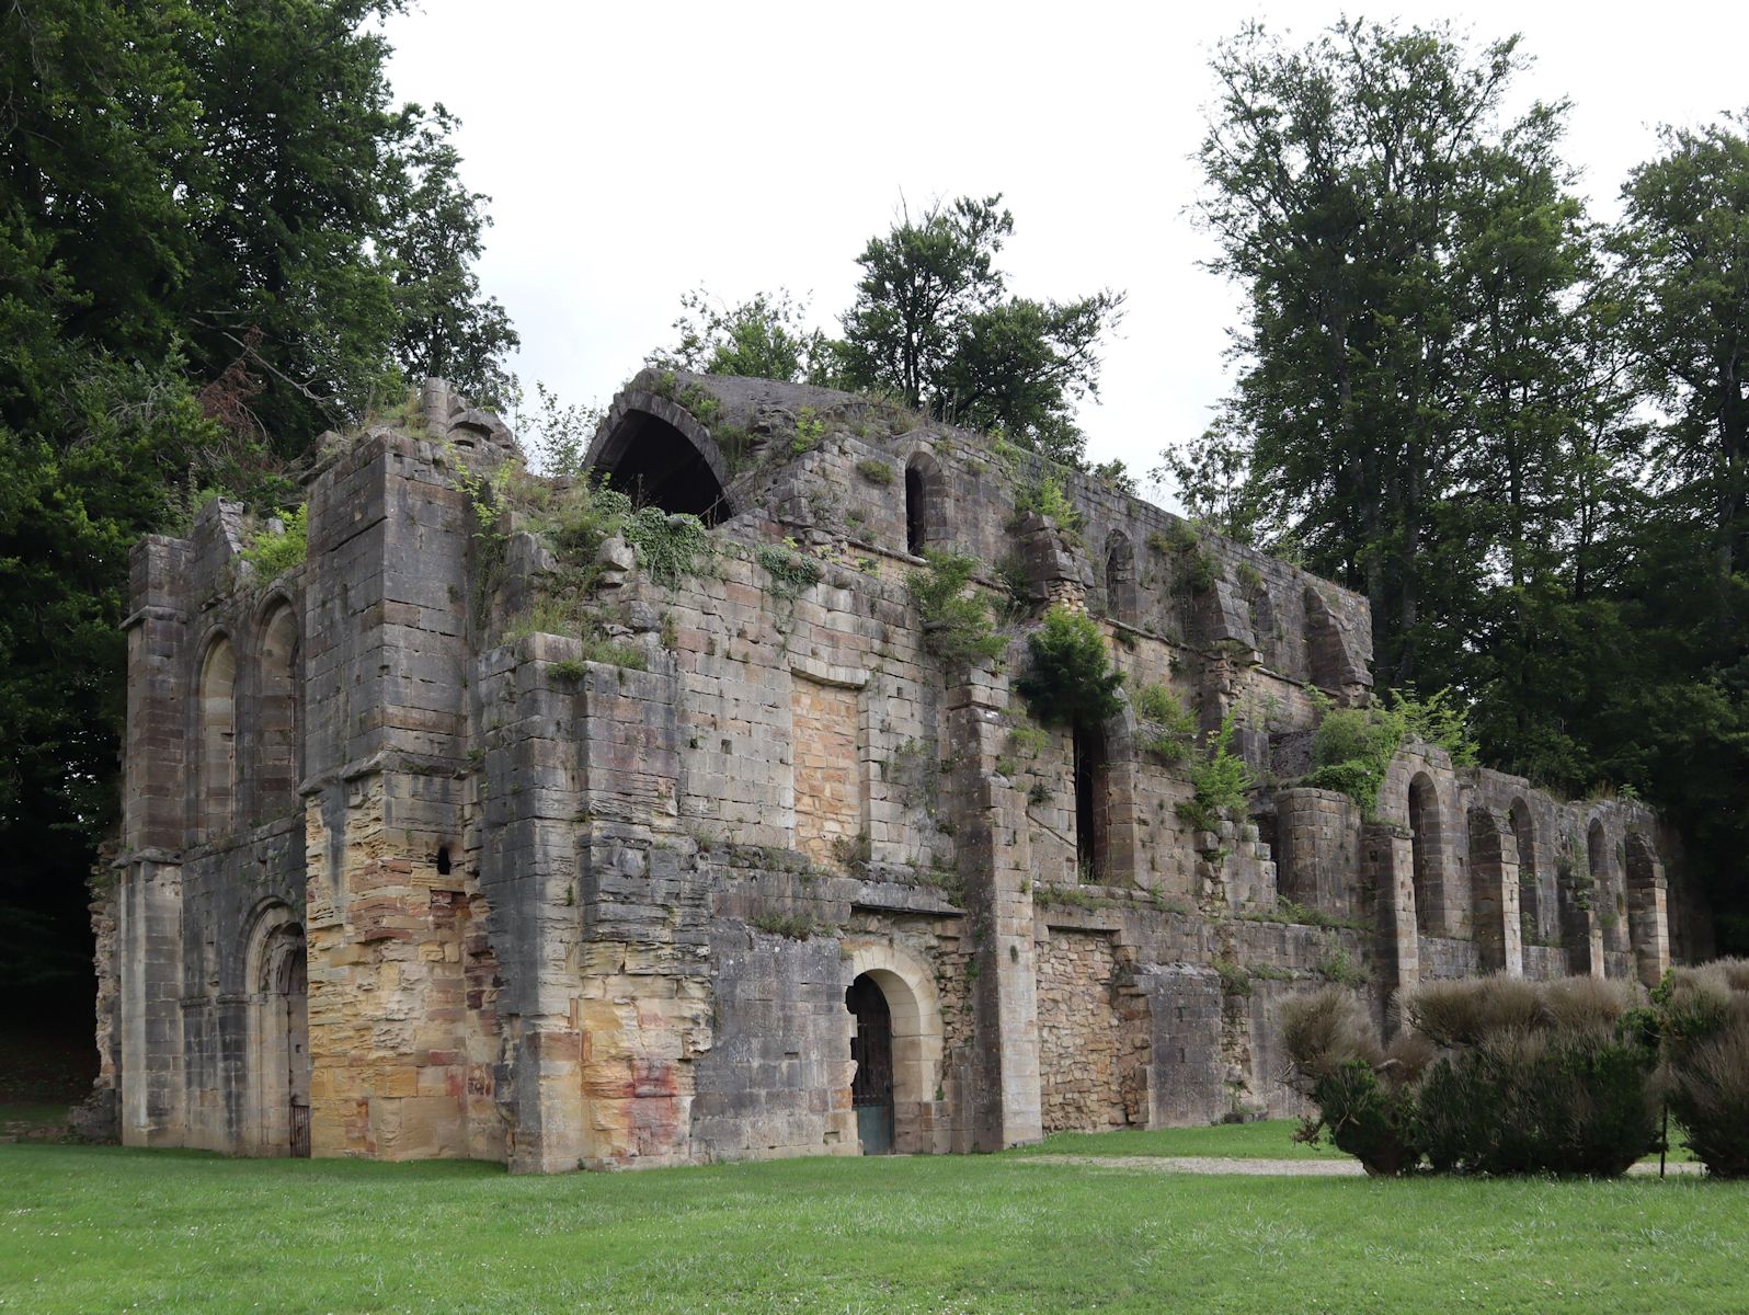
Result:
M1749 1187L1697 1179L1193 1177L1025 1152L512 1179L0 1145L0 1312L1740 1312L1746 1222Z

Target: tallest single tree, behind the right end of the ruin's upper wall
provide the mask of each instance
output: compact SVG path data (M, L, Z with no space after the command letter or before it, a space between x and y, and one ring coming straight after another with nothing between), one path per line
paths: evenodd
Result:
M1259 532L1366 591L1392 684L1466 677L1446 656L1487 563L1459 470L1485 406L1553 400L1513 376L1578 278L1578 208L1560 107L1501 122L1520 65L1515 38L1348 21L1300 49L1252 24L1214 58L1198 208L1251 306L1224 451L1181 460L1230 472L1244 446Z

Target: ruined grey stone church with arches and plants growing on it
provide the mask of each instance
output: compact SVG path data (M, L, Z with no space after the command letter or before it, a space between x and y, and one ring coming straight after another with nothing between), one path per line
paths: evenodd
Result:
M1090 476L654 371L588 467L665 547L567 530L577 483L439 381L329 435L276 579L226 502L136 546L93 904L124 1142L525 1172L993 1151L1294 1112L1275 1018L1329 981L1383 1018L1417 979L1651 983L1711 951L1642 804L1418 741L1371 817L1296 783L1320 710L1371 698L1366 602ZM1006 658L937 656L908 586L932 549L983 563ZM1049 605L1126 675L1104 726L1013 694ZM1203 741L1231 724L1242 815L1184 820L1144 687Z

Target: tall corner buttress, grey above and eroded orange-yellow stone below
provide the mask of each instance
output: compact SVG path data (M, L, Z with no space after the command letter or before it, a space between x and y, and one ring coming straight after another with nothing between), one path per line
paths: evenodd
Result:
M310 490L303 792L317 1156L491 1154L467 1117L470 518L434 442L373 432ZM477 1056L474 1056L477 1058Z

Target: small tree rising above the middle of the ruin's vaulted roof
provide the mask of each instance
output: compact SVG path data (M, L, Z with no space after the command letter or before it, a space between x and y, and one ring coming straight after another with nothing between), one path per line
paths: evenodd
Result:
M1081 465L1074 406L1098 395L1098 348L1123 315L1123 294L1009 296L997 255L1014 217L1000 203L962 196L916 219L902 210L890 233L869 238L838 372L852 388L894 392L941 420L1000 428Z

